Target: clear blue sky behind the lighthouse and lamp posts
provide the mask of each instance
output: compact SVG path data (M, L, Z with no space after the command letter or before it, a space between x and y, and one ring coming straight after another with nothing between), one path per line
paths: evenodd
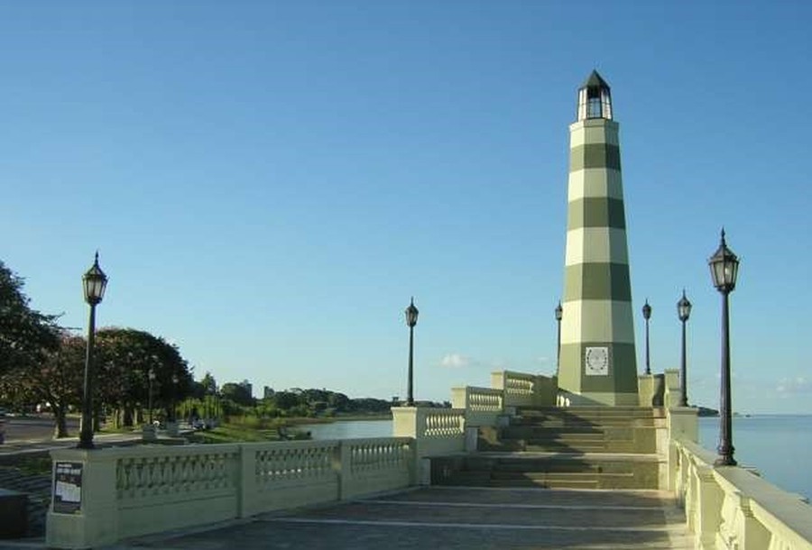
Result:
M568 124L612 86L638 366L688 322L718 407L724 225L734 409L812 413L812 4L0 3L0 259L32 306L178 344L218 382L450 399L555 371ZM85 330L82 328L82 330Z

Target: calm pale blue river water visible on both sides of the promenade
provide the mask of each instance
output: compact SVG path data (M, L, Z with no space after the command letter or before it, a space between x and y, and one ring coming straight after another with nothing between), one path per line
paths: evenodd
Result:
M389 437L392 420L349 420L299 426L313 439ZM812 416L754 415L734 418L736 461L752 466L784 490L812 499ZM699 418L699 443L715 452L719 418Z

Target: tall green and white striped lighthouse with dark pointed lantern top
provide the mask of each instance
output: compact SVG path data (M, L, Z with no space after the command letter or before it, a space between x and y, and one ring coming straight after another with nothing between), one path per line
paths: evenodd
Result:
M638 405L618 124L592 71L569 126L567 252L558 388L572 405Z

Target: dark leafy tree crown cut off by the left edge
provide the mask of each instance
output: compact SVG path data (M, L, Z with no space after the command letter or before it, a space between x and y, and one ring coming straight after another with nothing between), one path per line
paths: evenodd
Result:
M23 279L0 261L0 375L41 362L59 347L56 316L29 306Z

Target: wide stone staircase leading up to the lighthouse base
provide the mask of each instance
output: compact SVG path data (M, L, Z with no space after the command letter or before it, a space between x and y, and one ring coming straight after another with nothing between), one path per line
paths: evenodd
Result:
M469 487L658 489L659 408L521 408L479 430L477 452L431 459L431 481Z

